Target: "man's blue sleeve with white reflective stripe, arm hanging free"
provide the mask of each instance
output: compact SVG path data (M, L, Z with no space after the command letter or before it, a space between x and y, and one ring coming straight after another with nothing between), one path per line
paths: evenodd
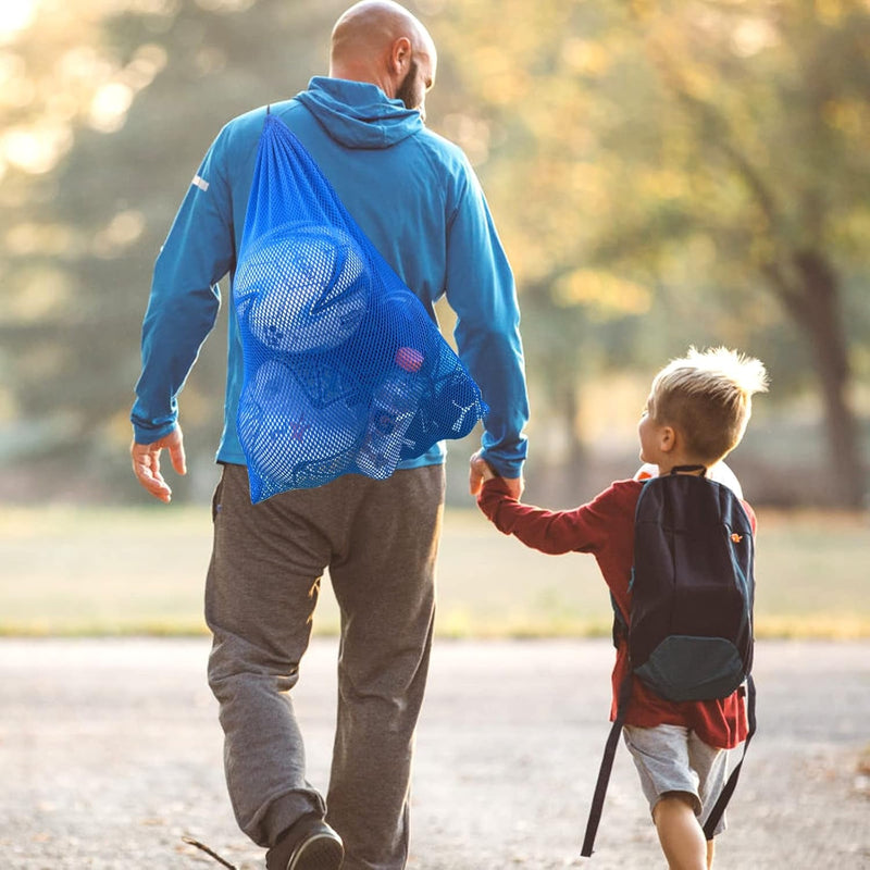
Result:
M130 413L139 444L151 444L175 426L178 394L217 316L217 282L235 259L222 147L223 134L194 176L154 264Z

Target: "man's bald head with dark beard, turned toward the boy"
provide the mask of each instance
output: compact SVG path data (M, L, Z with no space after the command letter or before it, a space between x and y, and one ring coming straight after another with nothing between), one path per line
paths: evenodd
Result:
M391 99L424 114L437 54L426 28L391 0L362 0L333 28L330 75L377 85ZM424 115L425 116L425 115Z

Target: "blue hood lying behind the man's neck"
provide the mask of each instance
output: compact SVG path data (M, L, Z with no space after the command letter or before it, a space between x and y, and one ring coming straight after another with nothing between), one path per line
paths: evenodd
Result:
M389 148L423 128L417 109L365 82L315 76L296 99L346 148Z

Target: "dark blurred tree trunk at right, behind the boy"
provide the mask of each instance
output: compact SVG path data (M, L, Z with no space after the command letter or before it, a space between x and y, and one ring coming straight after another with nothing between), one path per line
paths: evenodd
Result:
M774 281L776 296L812 346L824 403L834 501L846 508L861 508L865 468L857 420L846 395L852 373L842 320L840 281L828 260L817 251L798 251L793 262L794 284L786 283L782 273L778 273Z

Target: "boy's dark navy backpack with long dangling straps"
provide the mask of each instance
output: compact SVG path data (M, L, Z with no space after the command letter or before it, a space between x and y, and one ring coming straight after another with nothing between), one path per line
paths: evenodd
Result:
M630 671L598 773L583 857L593 853L633 678L672 701L726 698L746 682L744 756L755 734L753 529L737 496L705 474L701 465L681 465L647 481L637 500L631 613L621 613L613 602L613 642L627 643ZM743 759L704 825L707 840L742 765Z

